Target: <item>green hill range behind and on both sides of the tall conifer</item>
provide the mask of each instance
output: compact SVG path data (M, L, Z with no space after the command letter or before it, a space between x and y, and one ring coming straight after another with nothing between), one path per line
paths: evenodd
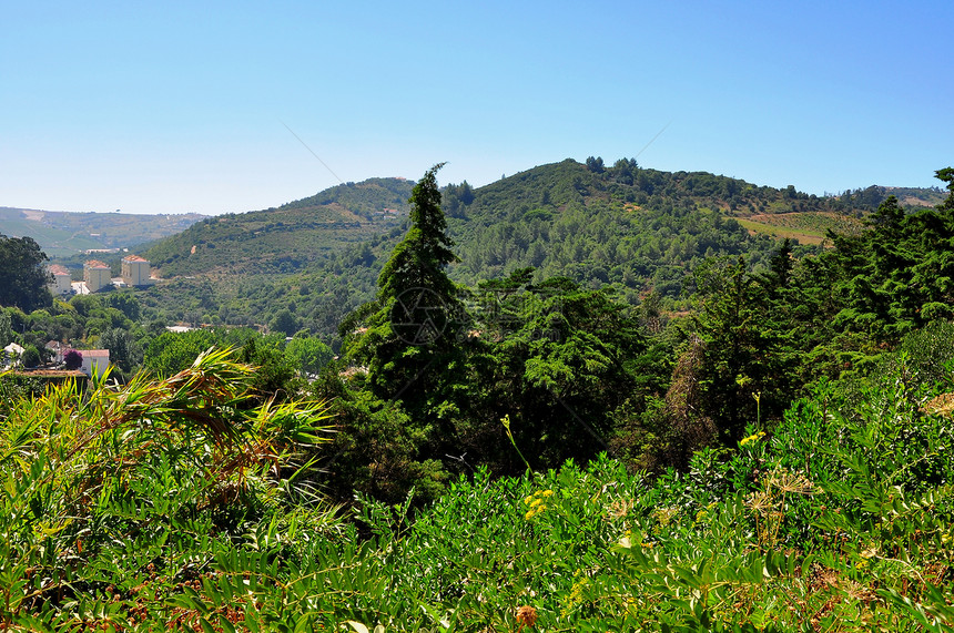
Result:
M175 279L144 300L194 323L267 324L287 309L301 327L332 335L374 296L380 267L406 231L413 184L373 178L278 208L205 219L145 253ZM532 266L538 278L609 285L633 304L653 292L678 302L707 257L745 255L758 267L783 237L804 254L824 247L829 229L862 231L877 192L859 191L864 195L819 197L703 172L647 170L630 160L612 166L566 160L479 188L446 186L443 207L460 257L449 273L476 284ZM903 191L911 197L931 190Z

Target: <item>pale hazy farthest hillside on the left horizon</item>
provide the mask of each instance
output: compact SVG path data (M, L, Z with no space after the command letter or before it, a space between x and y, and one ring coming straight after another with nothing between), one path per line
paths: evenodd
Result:
M29 236L50 257L70 257L90 249L132 248L184 231L205 217L135 215L131 213L71 213L0 207L0 233Z

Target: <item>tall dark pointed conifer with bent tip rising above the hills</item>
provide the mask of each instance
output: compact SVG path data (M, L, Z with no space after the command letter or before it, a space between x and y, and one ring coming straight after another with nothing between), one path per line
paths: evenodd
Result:
M445 272L457 257L440 208L440 167L414 187L412 225L382 269L377 297L339 326L342 364L364 367L366 382L343 381L349 371L334 366L317 389L335 397L338 450L348 462L329 470L394 500L409 486L425 498L440 488L444 471L432 458L453 450L460 411L454 391L467 384L457 340L463 310Z

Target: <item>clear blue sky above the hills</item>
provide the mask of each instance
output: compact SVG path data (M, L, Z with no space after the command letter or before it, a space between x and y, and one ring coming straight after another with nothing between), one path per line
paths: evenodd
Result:
M13 2L0 206L216 214L572 157L822 194L954 164L950 2Z

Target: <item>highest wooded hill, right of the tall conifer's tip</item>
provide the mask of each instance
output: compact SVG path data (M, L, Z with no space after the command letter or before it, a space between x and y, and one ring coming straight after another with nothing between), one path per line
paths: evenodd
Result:
M830 201L794 188L645 170L629 160L612 167L589 163L535 167L475 190L469 204L448 187L445 206L461 259L451 275L474 283L534 266L541 277L613 285L630 303L653 289L677 298L706 257L747 253L759 266L775 246L735 217L826 213L853 222L832 211Z

